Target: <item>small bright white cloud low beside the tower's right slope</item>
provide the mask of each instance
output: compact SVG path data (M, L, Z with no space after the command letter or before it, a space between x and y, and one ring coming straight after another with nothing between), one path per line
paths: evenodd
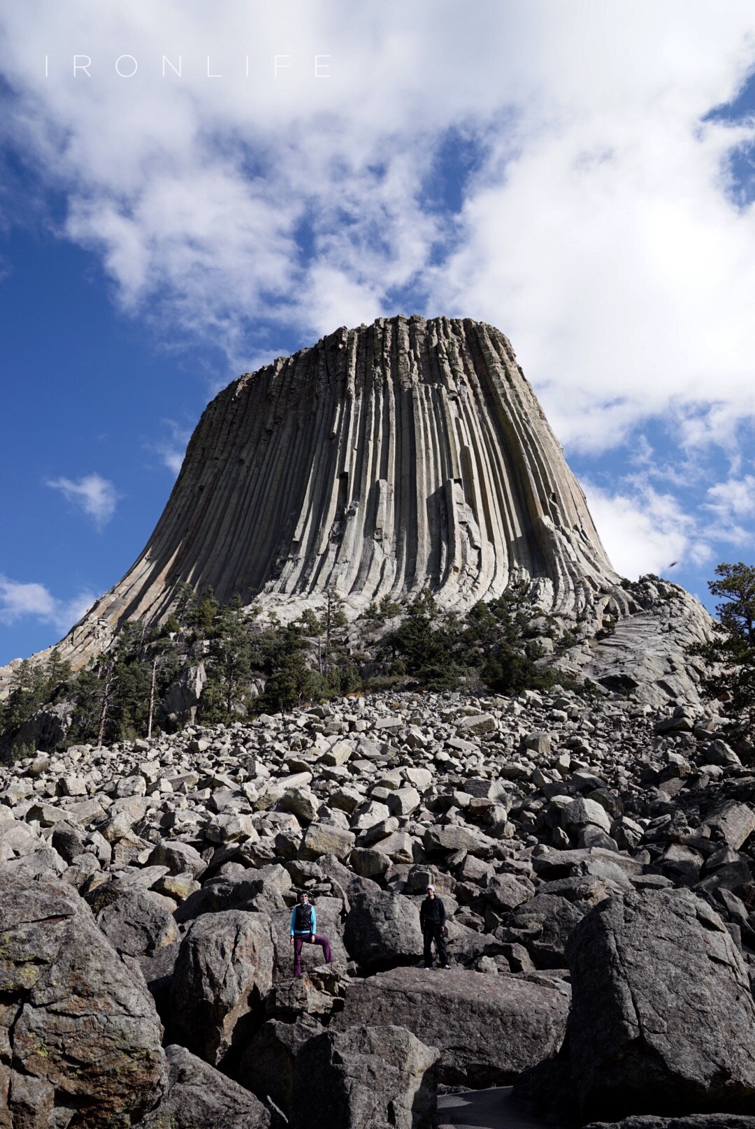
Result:
M710 546L694 518L671 495L648 485L611 495L590 482L583 484L604 548L622 576L631 580L646 572L668 576L671 566L710 559Z

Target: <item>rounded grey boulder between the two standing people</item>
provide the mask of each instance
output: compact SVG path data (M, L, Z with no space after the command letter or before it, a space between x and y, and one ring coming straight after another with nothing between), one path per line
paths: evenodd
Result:
M414 964L423 952L419 911L401 894L357 893L344 926L344 944L365 972Z

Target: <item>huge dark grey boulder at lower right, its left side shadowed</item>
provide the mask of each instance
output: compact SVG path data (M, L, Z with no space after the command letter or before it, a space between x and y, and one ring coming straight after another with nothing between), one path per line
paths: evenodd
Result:
M585 1118L755 1112L755 1001L705 902L687 890L609 898L574 929L567 956Z

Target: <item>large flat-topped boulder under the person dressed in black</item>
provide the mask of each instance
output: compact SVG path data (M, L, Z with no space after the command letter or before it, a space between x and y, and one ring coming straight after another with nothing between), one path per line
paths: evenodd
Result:
M555 1053L567 1013L569 987L555 979L403 968L350 983L331 1027L400 1024L437 1047L442 1082L501 1086Z

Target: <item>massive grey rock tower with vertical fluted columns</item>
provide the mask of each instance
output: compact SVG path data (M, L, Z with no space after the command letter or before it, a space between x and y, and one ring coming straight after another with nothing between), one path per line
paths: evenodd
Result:
M379 318L215 397L146 549L72 637L164 614L180 580L293 607L332 585L354 610L425 587L461 610L524 580L570 612L617 579L506 338Z

